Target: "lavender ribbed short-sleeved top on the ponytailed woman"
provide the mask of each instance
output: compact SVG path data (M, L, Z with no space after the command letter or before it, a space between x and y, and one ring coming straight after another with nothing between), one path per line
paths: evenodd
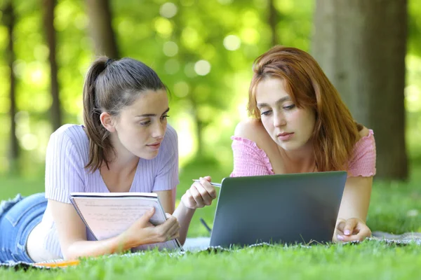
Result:
M99 170L91 173L88 163L89 141L81 125L63 125L51 134L46 152L46 198L69 202L69 193L109 193ZM130 192L152 193L171 190L178 185L178 137L167 126L156 158L140 158ZM55 258L62 258L58 233L50 207L41 221L44 228L44 248ZM88 240L95 240L86 230Z

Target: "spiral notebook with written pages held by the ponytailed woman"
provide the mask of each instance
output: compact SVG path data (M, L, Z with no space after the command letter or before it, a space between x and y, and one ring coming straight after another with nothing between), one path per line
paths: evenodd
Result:
M70 193L69 199L97 240L119 235L151 207L155 208L155 213L150 223L159 225L166 221L165 211L155 193ZM133 251L155 247L183 251L178 239L138 246Z

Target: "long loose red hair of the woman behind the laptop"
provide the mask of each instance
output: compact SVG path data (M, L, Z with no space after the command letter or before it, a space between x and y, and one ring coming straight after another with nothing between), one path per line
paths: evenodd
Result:
M347 169L362 126L355 123L316 60L298 48L277 45L255 59L253 71L248 94L249 115L260 119L255 99L258 83L267 77L283 79L294 104L315 113L312 141L318 171Z

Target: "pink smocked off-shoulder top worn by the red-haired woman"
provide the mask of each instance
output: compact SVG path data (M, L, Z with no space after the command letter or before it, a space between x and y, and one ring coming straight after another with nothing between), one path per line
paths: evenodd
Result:
M231 177L273 175L272 165L265 151L255 142L242 137L231 137L234 170ZM348 162L348 177L375 175L375 140L373 130L356 142Z

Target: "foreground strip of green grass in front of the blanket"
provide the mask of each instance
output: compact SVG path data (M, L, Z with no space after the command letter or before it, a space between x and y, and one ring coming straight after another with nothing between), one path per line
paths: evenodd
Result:
M0 270L0 279L417 279L419 246L358 245L248 248L170 256L159 252L83 260L51 271Z

